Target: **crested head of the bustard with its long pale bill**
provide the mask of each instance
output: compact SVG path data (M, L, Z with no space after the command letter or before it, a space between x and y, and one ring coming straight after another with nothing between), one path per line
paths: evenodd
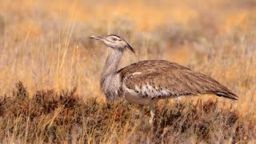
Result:
M118 35L110 34L107 36L90 36L92 39L100 40L105 43L106 46L109 46L110 48L124 51L126 49L131 50L134 54L134 49L121 37Z

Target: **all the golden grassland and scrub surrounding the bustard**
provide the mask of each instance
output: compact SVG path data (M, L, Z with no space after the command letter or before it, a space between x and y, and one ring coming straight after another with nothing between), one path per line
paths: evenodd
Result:
M134 47L137 56L127 51L122 66L178 62L229 87L238 101L158 102L152 134L147 122L139 126L137 106L106 102L100 92L107 50L92 34L118 34ZM255 39L253 0L2 0L0 142L254 143Z

